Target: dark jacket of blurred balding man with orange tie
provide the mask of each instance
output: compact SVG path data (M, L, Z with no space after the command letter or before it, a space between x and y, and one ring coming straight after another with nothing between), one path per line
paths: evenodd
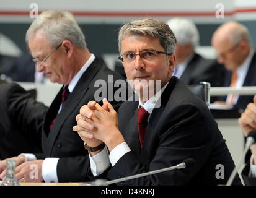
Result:
M223 87L229 87L231 84L231 71L226 71L224 75L224 84ZM250 66L247 72L247 75L244 80L243 86L256 86L256 54L252 57L252 61L250 62ZM219 101L226 101L227 96L219 97ZM248 103L253 101L253 95L241 95L239 96L236 105L234 108L237 109L239 112L245 110Z

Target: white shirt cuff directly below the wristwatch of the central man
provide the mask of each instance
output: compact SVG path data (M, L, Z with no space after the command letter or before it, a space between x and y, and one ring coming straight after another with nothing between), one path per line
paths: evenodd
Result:
M104 149L101 152L97 153L94 156L90 156L90 170L94 176L98 176L102 174L107 168L110 166L110 161L108 158L108 150L107 146L105 145Z

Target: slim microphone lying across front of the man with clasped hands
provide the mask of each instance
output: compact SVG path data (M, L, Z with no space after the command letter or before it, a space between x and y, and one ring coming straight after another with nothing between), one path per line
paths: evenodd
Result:
M169 171L169 170L192 168L193 166L195 166L195 164L196 164L195 160L193 160L192 158L188 158L187 160L184 160L182 163L179 163L176 166L171 166L168 168L162 168L159 170L149 171L147 173L135 174L133 176L127 176L125 178L120 178L120 179L113 179L110 181L107 181L106 179L97 179L90 184L92 184L93 186L108 186L110 184L119 183L119 182L130 180L130 179L141 178L143 176L148 176L148 175L156 174L156 173L162 173L162 172Z

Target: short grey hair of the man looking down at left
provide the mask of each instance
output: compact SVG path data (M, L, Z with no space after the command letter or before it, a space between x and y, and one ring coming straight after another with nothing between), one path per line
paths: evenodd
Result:
M86 47L84 34L70 12L43 11L37 19L33 20L27 30L27 43L38 30L42 30L46 34L52 47L60 45L64 40L71 41L77 48L84 49Z

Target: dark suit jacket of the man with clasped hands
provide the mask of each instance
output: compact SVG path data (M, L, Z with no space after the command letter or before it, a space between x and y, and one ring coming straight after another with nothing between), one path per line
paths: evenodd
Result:
M118 125L131 152L108 171L108 179L167 168L193 158L196 161L193 168L144 176L118 185L226 184L234 162L225 140L205 103L179 79L172 77L162 93L161 107L152 111L142 149L137 111L138 102L125 102L120 106ZM223 179L216 178L219 165L224 167ZM238 178L236 184L240 184Z

